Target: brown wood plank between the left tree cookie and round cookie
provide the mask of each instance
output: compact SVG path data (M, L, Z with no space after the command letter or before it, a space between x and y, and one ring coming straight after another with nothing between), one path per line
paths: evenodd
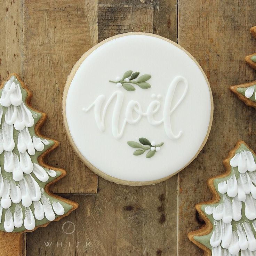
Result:
M97 176L74 154L62 121L67 75L80 56L97 43L96 1L24 0L24 81L32 104L48 114L42 133L61 146L47 161L67 170L54 192L96 193Z

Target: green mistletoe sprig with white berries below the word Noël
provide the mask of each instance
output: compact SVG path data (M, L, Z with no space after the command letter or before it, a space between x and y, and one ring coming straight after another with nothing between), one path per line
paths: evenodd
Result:
M163 142L156 144L154 141L150 142L146 138L139 138L139 144L135 141L128 141L127 144L130 147L133 147L134 149L137 149L133 152L134 155L142 155L146 150L149 150L146 154L146 158L151 158L155 155L155 152L158 152L160 150L160 147L163 145Z

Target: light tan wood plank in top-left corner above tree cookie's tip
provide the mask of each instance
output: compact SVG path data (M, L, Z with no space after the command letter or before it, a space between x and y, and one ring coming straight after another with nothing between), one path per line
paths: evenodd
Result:
M20 0L2 0L0 8L0 83L9 74L23 74L23 13Z

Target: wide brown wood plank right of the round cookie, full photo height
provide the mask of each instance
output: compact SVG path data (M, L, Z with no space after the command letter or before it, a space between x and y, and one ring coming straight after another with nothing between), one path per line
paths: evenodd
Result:
M250 34L255 25L253 1L184 1L178 6L178 43L205 71L214 97L214 120L202 152L179 174L179 255L203 255L187 239L187 232L203 225L195 203L209 200L206 181L223 173L222 160L243 139L255 150L255 109L231 93L230 85L255 80L255 71L244 61L255 52Z

